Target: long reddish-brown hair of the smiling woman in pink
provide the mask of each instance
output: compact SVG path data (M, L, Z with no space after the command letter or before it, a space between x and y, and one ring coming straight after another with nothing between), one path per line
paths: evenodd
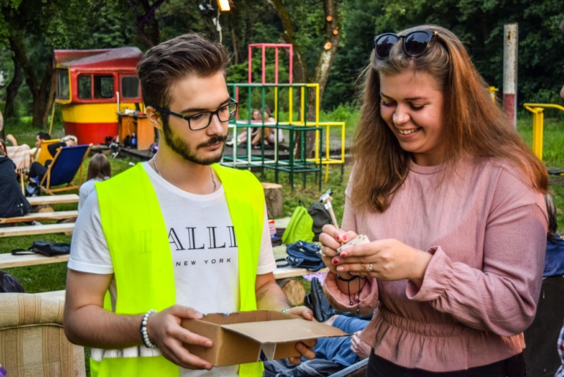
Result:
M486 82L458 37L435 25L412 27L398 35L413 30L436 31L438 37L431 39L417 57L405 54L403 39L392 47L387 59L376 58L372 51L364 70L362 108L353 144L355 165L362 166L362 173L359 170L352 183L353 206L363 209L368 205L374 211L386 211L409 172L411 154L400 147L380 115L379 75L397 75L405 70L431 75L442 89L443 142L450 146L445 163L450 171L463 154L501 157L522 171L535 190L547 192L546 168L491 101Z

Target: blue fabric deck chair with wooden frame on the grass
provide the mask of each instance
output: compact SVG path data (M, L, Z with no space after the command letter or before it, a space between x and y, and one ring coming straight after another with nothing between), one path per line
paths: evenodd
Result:
M82 183L82 163L88 156L90 148L92 148L92 144L60 148L41 180L41 190L50 195L60 191L78 190ZM78 171L80 171L78 185L73 185L73 180ZM51 187L60 185L66 185L66 187L51 189Z

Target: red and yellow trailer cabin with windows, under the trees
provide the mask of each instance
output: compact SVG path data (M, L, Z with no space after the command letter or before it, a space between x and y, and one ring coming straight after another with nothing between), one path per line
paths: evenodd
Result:
M118 135L119 113L143 111L135 73L141 58L137 47L55 50L56 102L67 135L80 144L102 144Z

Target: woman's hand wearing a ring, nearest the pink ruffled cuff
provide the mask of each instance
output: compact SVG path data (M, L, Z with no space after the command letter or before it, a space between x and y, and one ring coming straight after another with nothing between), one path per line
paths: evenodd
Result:
M420 288L429 261L431 254L388 239L343 250L335 269L339 275L347 272L381 280L409 279Z

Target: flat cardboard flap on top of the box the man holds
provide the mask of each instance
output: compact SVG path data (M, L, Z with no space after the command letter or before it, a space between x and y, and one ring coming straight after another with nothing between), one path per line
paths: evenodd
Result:
M231 323L221 325L221 327L261 343L290 342L349 335L336 327L305 319Z

